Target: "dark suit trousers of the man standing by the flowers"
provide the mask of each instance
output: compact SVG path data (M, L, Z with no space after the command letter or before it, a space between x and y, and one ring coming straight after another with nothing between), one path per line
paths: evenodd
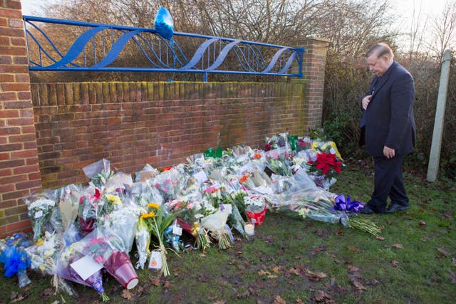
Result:
M402 173L404 155L395 155L393 158L373 157L374 162L374 190L372 199L368 201L375 212L385 212L388 196L391 204L408 206L408 196Z

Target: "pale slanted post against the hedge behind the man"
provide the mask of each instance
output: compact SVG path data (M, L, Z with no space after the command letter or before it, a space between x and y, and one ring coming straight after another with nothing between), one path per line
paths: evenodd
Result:
M439 95L435 109L434 132L430 147L429 164L427 165L427 181L435 182L439 172L440 149L442 148L442 135L445 118L445 103L447 101L448 78L450 78L451 51L443 53L442 71L440 73Z

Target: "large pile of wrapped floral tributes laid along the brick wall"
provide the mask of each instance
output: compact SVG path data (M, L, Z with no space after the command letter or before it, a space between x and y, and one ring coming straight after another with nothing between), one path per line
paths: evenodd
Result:
M342 167L334 142L286 133L266 137L264 150L217 147L185 164L162 169L146 164L135 179L113 172L101 159L83 168L88 185L26 197L34 243L24 252L33 269L56 276L56 288L63 285L58 278L65 278L107 300L103 268L124 288L134 288L135 268L147 264L167 276L170 254L229 248L234 234L247 238L274 212L378 236L378 227L357 216L363 203L329 192Z

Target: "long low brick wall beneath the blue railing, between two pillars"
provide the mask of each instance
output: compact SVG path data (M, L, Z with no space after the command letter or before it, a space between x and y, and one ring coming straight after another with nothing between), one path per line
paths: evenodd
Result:
M307 130L304 84L32 84L43 188L86 182L99 159L134 173L164 167L208 147L247 144Z

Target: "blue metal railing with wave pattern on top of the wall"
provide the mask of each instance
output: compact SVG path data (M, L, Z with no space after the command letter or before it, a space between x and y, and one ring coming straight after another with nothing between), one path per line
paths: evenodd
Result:
M24 16L24 26L29 70L202 73L204 81L207 73L303 77L304 48L180 32L169 41L151 28L34 16ZM132 66L138 53L143 58Z

